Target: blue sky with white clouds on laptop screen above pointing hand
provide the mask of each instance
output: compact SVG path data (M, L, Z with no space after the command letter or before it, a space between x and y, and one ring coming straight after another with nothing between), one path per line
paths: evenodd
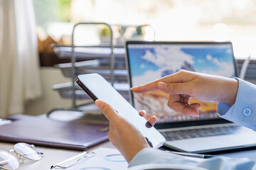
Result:
M179 69L187 69L194 72L214 74L223 77L235 77L233 52L230 47L197 47L193 45L155 45L156 47L130 47L129 62L132 79L145 77L147 82L159 79ZM156 75L155 75L156 74ZM153 76L155 75L155 76ZM144 78L143 78L144 79ZM132 81L137 83L137 81ZM139 84L132 84L139 85Z

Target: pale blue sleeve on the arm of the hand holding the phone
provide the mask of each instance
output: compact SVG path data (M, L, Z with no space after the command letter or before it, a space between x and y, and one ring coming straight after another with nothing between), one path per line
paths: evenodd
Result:
M129 162L129 168L134 166L141 166L147 164L169 164L183 165L191 167L191 169L198 169L198 167L209 170L252 170L256 169L256 162L249 159L230 159L228 157L214 157L210 159L189 159L180 155L171 154L154 148L144 148L138 152L135 157Z

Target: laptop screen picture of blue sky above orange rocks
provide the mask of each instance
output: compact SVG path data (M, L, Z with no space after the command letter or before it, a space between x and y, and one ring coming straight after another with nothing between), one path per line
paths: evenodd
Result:
M154 81L180 69L223 77L235 77L231 45L129 45L128 50L132 86ZM141 95L134 94L134 106L138 110L149 107L149 113L157 113L158 116L159 114L164 114L163 116L177 114L170 114L170 109L164 106L167 103L164 94ZM157 106L159 103L151 101L151 98L160 102L161 111L154 108L159 108ZM153 107L154 103L156 106ZM209 107L211 109L202 109L201 113L215 112L215 108Z

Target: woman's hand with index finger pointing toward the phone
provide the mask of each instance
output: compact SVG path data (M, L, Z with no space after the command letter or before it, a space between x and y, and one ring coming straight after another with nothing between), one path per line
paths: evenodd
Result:
M167 105L174 111L198 116L198 109L201 106L199 103L189 103L190 98L227 103L232 106L238 93L238 80L181 70L176 74L132 88L135 93L154 90L169 94Z

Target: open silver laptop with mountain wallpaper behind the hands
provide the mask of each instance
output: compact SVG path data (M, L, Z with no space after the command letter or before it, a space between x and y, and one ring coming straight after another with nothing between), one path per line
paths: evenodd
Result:
M238 77L231 42L128 41L127 69L130 86L138 86L186 69L222 77ZM137 111L156 115L155 127L166 138L164 146L182 152L206 153L256 146L256 132L219 118L216 104L201 103L198 118L181 115L167 106L161 91L135 94L130 100Z

